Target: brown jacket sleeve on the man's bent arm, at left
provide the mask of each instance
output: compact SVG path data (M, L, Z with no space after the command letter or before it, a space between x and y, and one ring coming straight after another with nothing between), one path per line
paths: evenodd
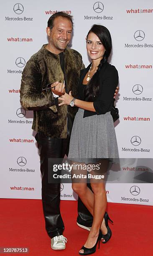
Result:
M57 111L51 90L42 91L41 72L37 61L30 59L22 73L20 86L20 103L25 110Z

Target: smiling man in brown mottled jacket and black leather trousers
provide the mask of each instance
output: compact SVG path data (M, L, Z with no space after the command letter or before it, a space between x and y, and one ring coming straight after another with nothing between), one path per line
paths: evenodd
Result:
M76 97L80 70L84 68L82 56L66 46L71 40L72 16L55 13L48 20L48 44L27 62L22 73L20 102L25 110L33 110L32 129L40 151L42 174L42 202L46 231L51 248L65 249L67 239L62 235L64 223L60 213L60 184L48 182L48 159L64 158L69 150L71 125L77 108L58 105L57 95L72 91ZM56 82L58 81L58 82ZM63 83L65 81L65 87ZM55 83L56 82L56 83ZM54 91L51 87L54 87ZM79 226L90 230L92 215L78 201Z

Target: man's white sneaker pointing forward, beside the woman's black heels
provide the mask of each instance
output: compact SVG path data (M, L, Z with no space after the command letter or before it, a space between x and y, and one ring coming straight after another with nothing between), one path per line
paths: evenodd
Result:
M66 237L63 235L61 236L54 236L51 238L51 248L53 250L64 250L65 249L65 243L67 242Z

